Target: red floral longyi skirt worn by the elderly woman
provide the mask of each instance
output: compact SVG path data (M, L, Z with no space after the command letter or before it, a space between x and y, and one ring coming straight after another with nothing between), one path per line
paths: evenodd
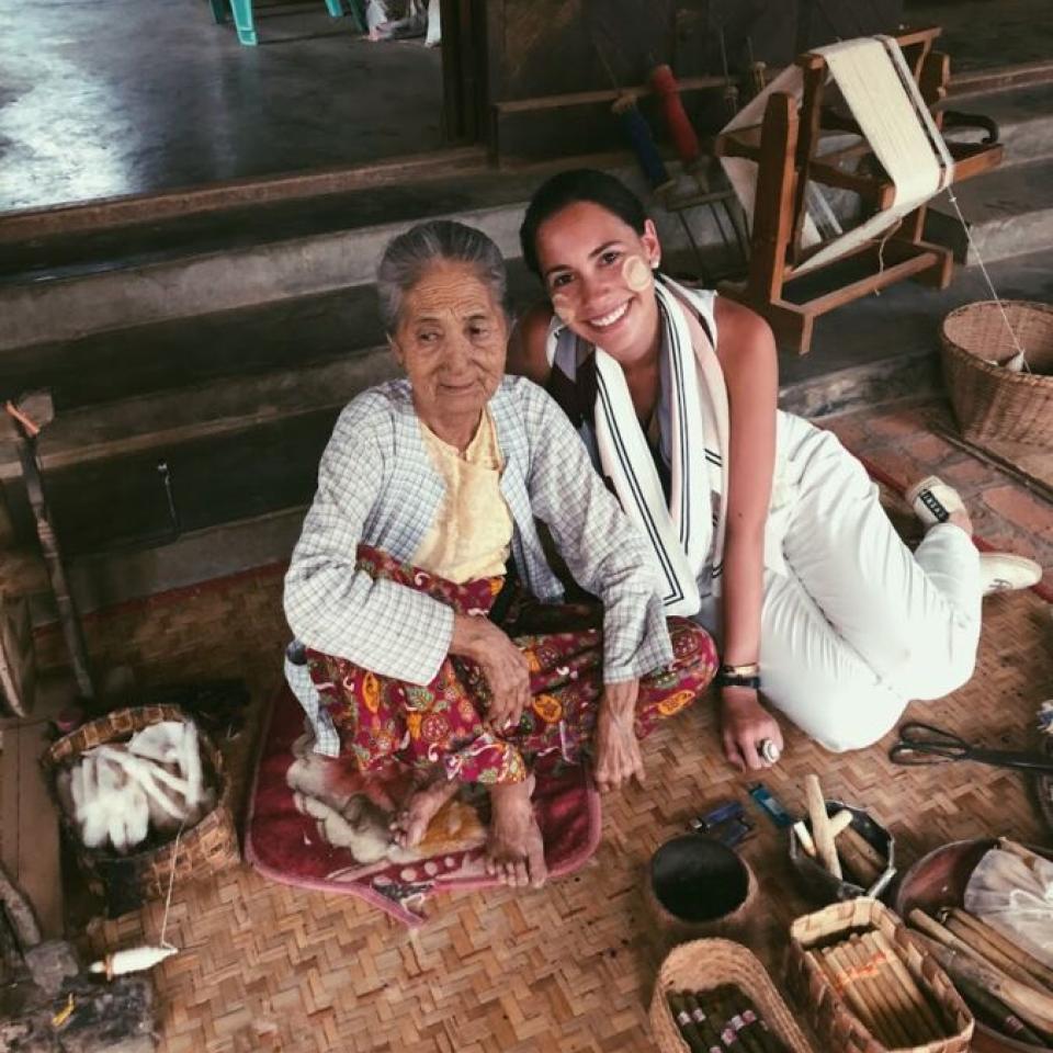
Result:
M488 612L505 582L496 577L455 585L366 545L359 546L358 565L458 613ZM576 762L588 747L603 691L601 620L596 604L543 604L517 596L500 624L526 657L531 704L516 727L500 733L486 725L489 687L467 659L448 657L423 686L377 676L309 648L307 661L342 749L362 771L396 760L422 773L441 765L448 778L465 782L519 782L533 758L559 750ZM716 672L716 647L705 630L671 618L669 635L672 663L639 683L638 738L693 702Z

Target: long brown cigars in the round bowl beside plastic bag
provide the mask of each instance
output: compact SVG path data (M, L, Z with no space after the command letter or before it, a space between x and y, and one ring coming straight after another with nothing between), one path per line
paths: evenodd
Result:
M999 848L1022 859L1033 854L1003 839ZM958 907L930 917L912 910L907 920L943 966L976 1017L1001 1034L1038 1049L1053 1049L1053 970L997 929Z

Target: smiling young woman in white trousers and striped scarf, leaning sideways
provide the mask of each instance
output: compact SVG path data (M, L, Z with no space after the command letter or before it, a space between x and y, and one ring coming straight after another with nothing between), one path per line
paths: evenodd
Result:
M550 303L518 326L509 367L578 428L652 543L667 611L716 634L732 763L781 752L761 690L845 750L969 679L982 593L1032 584L1037 565L982 559L961 500L935 478L908 494L931 524L912 553L837 438L777 409L767 322L661 275L655 226L614 178L554 177L520 237Z

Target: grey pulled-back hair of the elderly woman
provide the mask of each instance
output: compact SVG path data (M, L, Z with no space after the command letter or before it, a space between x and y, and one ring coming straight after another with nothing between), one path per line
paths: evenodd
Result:
M452 219L430 219L393 238L376 269L376 294L386 332L398 327L403 297L441 260L468 263L508 315L508 274L501 250L482 230Z

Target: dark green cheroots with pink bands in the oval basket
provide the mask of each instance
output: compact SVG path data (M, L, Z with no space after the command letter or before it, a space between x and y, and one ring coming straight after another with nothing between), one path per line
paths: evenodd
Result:
M738 987L671 990L666 997L691 1053L724 1053L733 1046L741 1053L786 1053L752 999Z

